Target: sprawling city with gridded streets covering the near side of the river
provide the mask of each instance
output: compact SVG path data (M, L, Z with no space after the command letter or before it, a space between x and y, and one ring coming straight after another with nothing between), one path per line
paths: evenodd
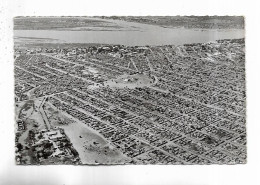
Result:
M14 57L17 164L246 163L244 39Z

